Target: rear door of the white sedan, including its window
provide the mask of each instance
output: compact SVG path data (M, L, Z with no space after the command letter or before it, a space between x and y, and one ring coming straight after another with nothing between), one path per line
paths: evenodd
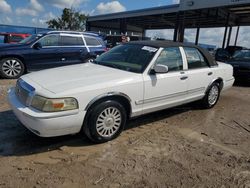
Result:
M184 51L188 65L188 98L202 98L214 79L213 68L197 48L184 47Z

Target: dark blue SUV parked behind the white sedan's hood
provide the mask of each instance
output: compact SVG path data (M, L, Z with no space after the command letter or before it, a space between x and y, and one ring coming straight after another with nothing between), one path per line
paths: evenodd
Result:
M97 34L50 31L18 44L0 46L0 76L18 78L25 72L92 61L106 51Z

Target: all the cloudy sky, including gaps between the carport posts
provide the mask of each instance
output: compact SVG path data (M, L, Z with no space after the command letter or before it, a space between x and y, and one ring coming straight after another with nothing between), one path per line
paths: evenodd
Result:
M122 12L163 5L177 4L179 0L0 0L0 24L47 27L46 21L61 15L63 8L75 8L88 15ZM200 43L221 47L224 28L201 29ZM233 28L230 44L234 44ZM196 30L185 30L185 39L195 41ZM173 30L146 31L149 37L173 38ZM250 28L241 27L238 45L250 48Z

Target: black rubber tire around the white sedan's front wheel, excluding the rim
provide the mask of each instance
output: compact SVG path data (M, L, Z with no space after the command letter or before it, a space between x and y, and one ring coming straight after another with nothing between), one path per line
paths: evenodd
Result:
M111 137L102 137L101 135L98 134L97 130L96 130L96 121L98 116L100 115L100 113L105 110L106 108L109 107L115 107L117 108L120 113L121 113L121 126L119 128L119 130ZM103 142L107 142L110 140L115 139L117 136L120 135L120 133L123 131L125 124L127 121L127 114L126 114L126 110L124 109L124 107L117 101L113 101L113 100L109 100L109 101L104 101L98 105L95 105L89 114L88 117L88 121L87 124L85 126L87 126L86 128L88 129L88 134L89 134L89 138L96 142L96 143L103 143ZM88 135L87 135L88 136Z

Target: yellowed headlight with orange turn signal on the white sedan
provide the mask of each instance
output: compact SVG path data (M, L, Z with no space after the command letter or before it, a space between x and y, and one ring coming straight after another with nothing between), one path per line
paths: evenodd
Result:
M43 112L60 112L78 109L78 102L75 98L48 99L41 96L34 96L31 106Z

